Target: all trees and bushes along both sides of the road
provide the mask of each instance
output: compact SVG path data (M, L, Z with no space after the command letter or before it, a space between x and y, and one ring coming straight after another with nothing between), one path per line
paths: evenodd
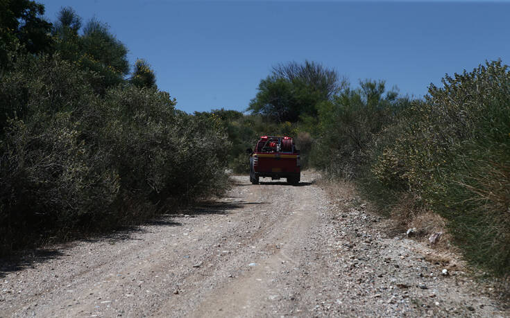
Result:
M423 99L384 80L277 64L246 112L186 114L130 66L107 24L0 0L0 251L143 220L221 195L246 148L293 136L304 168L349 180L426 238L446 227L471 263L510 272L510 71L488 61ZM445 229L445 230L446 230Z

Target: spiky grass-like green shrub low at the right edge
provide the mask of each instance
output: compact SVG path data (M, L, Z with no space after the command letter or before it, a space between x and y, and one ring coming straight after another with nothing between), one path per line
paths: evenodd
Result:
M468 260L505 275L510 272L510 166L507 164L510 152L508 145L505 153L498 150L495 146L479 148L476 155L490 156L499 162L471 158L463 161L467 171L453 175L452 186L445 194L445 201L450 200L454 209L443 211L443 215L451 220L452 233L456 234L454 242L465 249Z

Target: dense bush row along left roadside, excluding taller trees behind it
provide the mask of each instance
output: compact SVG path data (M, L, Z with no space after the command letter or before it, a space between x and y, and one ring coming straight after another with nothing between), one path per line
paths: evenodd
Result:
M20 58L3 78L0 254L228 187L230 142L219 120L180 112L155 88L97 96L94 76L56 55Z

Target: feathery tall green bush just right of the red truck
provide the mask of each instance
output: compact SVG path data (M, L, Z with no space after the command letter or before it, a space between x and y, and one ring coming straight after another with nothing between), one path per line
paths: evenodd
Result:
M396 92L384 96L384 82L365 80L359 89L345 89L334 100L318 105L319 139L312 163L329 175L353 178L370 160L368 149L375 136L406 107L407 98Z

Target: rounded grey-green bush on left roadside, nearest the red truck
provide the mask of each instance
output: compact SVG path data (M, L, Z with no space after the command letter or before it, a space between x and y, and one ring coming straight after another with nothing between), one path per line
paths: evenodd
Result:
M105 143L130 196L192 201L225 188L220 167L230 144L214 120L176 112L175 101L155 89L114 89L105 102Z

